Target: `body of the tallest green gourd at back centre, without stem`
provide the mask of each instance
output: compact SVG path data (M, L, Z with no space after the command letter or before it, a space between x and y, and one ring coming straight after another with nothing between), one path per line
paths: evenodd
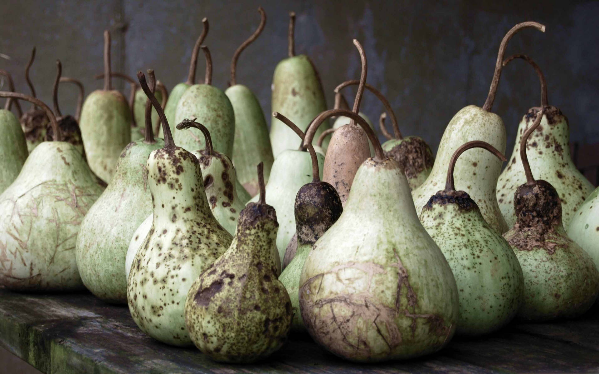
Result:
M313 63L305 54L289 57L279 62L274 69L272 88L271 111L285 115L304 132L310 122L320 112L326 110L325 94L320 77ZM331 125L328 121L320 125L314 133L312 143L316 145L320 134L330 128ZM270 144L276 159L282 151L298 148L297 135L286 124L272 118ZM328 139L322 143L322 149L325 152L328 144Z

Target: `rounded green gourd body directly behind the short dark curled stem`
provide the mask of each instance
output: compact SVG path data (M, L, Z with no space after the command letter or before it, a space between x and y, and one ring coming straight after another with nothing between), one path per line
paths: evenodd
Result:
M229 98L210 84L194 84L189 87L177 104L174 123L197 118L210 131L215 150L227 156L233 154L235 138L235 114ZM195 151L205 148L204 135L195 128L175 130L173 139L181 148Z

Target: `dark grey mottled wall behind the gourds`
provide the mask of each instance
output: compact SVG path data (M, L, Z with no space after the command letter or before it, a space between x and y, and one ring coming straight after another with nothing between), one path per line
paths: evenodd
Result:
M153 68L169 89L184 81L193 43L210 21L205 41L214 61L213 84L226 87L229 63L238 44L259 22L258 5L268 16L262 36L241 55L238 83L259 96L270 113L273 69L286 57L288 12L297 13L296 50L314 60L323 78L329 107L332 89L359 78L359 56L352 38L368 57L368 83L385 93L404 134L420 135L436 149L444 127L467 104L482 106L501 38L513 25L536 20L545 34L527 29L507 50L527 53L543 69L549 102L570 119L571 140L599 142L599 2L527 1L158 1L94 2L5 0L0 7L0 68L14 75L17 90L28 92L23 71L37 45L32 79L38 96L50 103L55 59L63 74L83 80L87 93L101 87L102 31L113 35L113 71L135 77ZM200 59L198 77L203 77ZM126 91L124 84L114 81ZM376 121L382 105L366 94L362 108ZM353 100L353 92L347 95ZM539 105L539 82L522 61L501 77L493 110L508 131L509 154L519 118ZM75 92L60 90L63 112L72 112Z

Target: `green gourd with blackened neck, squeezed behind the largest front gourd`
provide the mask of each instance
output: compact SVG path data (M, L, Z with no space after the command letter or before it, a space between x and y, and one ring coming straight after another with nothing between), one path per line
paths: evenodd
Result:
M299 131L301 132L301 130ZM291 308L294 314L291 329L295 332L305 330L304 321L301 319L301 313L299 313L299 276L301 275L301 269L304 267L305 259L308 257L314 242L337 221L343 211L343 205L335 187L320 181L316 151L309 143L307 148L312 159L313 178L311 183L304 184L299 188L298 194L295 196L295 227L297 229L295 254L289 266L285 267L279 277L291 300ZM287 254L286 252L285 256Z

